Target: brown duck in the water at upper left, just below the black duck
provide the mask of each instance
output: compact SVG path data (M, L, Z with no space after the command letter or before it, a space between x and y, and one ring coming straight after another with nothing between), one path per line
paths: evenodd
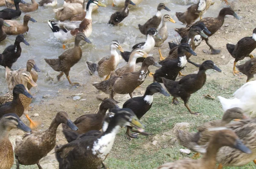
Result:
M11 27L3 27L3 31L8 35L24 34L29 31L29 21L36 23L36 20L34 20L30 14L24 15L23 24L20 24L16 20L5 20L5 22L11 25Z

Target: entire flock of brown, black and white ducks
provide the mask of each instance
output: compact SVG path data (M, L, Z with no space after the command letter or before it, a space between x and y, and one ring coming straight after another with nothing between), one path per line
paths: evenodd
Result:
M21 120L21 115L26 115L30 121L30 127L37 127L38 123L29 118L29 105L32 101L30 89L36 87L38 72L40 69L33 59L27 61L26 68L12 70L12 65L20 57L22 49L20 43L29 45L23 33L29 31L28 22L36 22L29 14L23 19L23 24L14 19L19 17L21 11L35 11L38 6L55 6L57 0L41 0L39 4L32 0L31 4L23 0L0 0L0 5L8 8L0 11L0 41L6 39L6 34L17 35L14 45L9 45L0 54L0 65L6 68L6 83L10 92L0 96L0 168L10 169L14 163L12 144L9 141L9 132L18 128L27 132L22 139L16 140L14 148L17 169L20 165L37 164L39 169L41 158L45 157L55 147L55 155L59 162L60 169L97 169L106 168L103 161L110 153L116 133L121 127L127 127L126 138L138 138L136 133L151 135L145 132L145 125L140 118L151 109L154 93L161 93L164 96L173 96L172 103L178 104L177 98L181 98L189 113L193 112L188 105L191 94L200 90L206 82L206 70L221 70L211 61L204 61L201 65L189 60L190 56L197 56L195 49L205 40L211 49L211 54L220 53L209 44L208 39L224 23L226 15L233 15L239 19L232 8L222 8L217 17L202 17L207 9L213 4L211 0L199 0L197 4L190 6L185 12L177 12L176 17L184 24L183 28L175 28L183 38L180 44L169 42L170 52L166 58L161 54L161 46L168 37L166 22L176 23L169 14L162 18L161 10L170 11L164 3L157 6L157 13L143 25L138 25L140 32L146 35L145 42L134 45L131 51L124 51L118 40L110 44L110 56L103 57L98 63L87 61L87 68L91 74L97 74L101 82L93 84L96 89L110 95L99 106L98 113L85 114L71 121L66 112L58 112L46 131L32 131ZM224 0L226 3L227 1ZM128 17L129 7L138 5L142 0L113 0L113 6L120 6L122 9L111 15L109 24L118 25ZM48 25L53 35L68 44L75 42L74 47L66 50L57 59L47 59L45 62L55 71L60 72L58 81L65 74L70 85L79 85L71 82L69 72L82 57L80 42L90 42L90 34L93 31L92 11L99 6L105 7L99 0L69 0L62 8L54 9L58 22L49 20ZM200 17L200 20L195 22ZM69 22L62 22L70 20ZM162 21L162 26L157 30ZM154 47L159 49L160 62L148 54ZM227 50L235 58L233 73L240 74L236 67L247 76L247 83L234 93L233 98L221 101L225 111L221 120L209 121L198 127L198 132L186 132L179 130L177 138L180 144L194 152L204 154L199 160L183 159L159 166L159 169L214 169L219 163L218 169L222 166L243 166L256 159L255 146L255 116L256 106L248 100L256 99L254 86L256 81L248 82L256 74L256 60L251 52L256 48L256 28L252 37L244 37L236 45L227 44ZM120 57L127 62L127 65L118 68ZM242 65L236 62L250 57L251 59ZM136 70L136 64L142 62L140 70ZM192 63L199 68L198 73L184 76L180 71L186 63ZM158 69L155 73L149 71L149 66ZM32 70L32 68L34 70ZM147 75L153 76L154 82L148 85L145 94L140 97L133 97L133 91L145 81ZM184 76L175 81L177 76ZM166 90L160 83L163 83ZM129 94L128 99L119 108L114 100L116 93ZM250 104L252 103L252 104ZM109 110L109 114L107 113ZM240 119L237 121L237 119ZM231 122L236 120L236 122ZM62 124L63 133L68 144L56 146L56 130ZM99 131L102 129L102 132ZM134 132L134 133L130 133ZM256 161L254 161L256 163Z

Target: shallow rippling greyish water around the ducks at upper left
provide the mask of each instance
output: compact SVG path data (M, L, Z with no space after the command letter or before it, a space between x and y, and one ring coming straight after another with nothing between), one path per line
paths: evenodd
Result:
M131 47L138 43L144 42L145 36L142 35L138 29L138 24L144 24L150 17L156 13L158 3L165 3L166 6L171 9L170 12L163 10L164 14L170 14L173 19L177 22L168 23L169 39L175 38L176 32L173 28L183 27L177 18L175 17L176 11L185 11L189 6L189 3L193 3L196 0L143 0L138 6L133 6L130 9L129 16L123 20L121 26L111 26L108 20L118 7L112 7L112 0L102 0L102 3L106 4L107 7L100 7L97 11L92 14L93 18L93 32L89 37L92 44L82 45L83 56L79 63L77 63L70 70L70 79L72 82L79 82L86 84L89 76L86 68L86 61L98 62L103 56L107 56L109 52L109 44L112 40L119 40L125 51L130 51ZM27 3L30 3L26 0ZM63 4L63 0L58 1L58 5L53 8L60 8ZM204 16L215 17L218 15L221 1L216 0L214 6L211 6ZM0 7L0 10L5 7ZM26 13L22 13L21 16L16 19L23 22L23 16ZM55 20L55 14L52 11L52 7L39 7L37 11L29 12L29 14L37 20L37 23L29 22L29 32L24 36L29 42L29 46L21 43L22 53L20 58L15 62L12 69L17 70L19 68L26 68L26 62L28 59L34 59L38 68L41 69L38 78L38 94L37 101L41 99L41 96L49 93L55 93L59 88L69 87L69 83L65 76L62 77L61 82L57 82L56 76L58 72L52 70L52 68L46 64L44 58L57 58L64 52L62 44L59 40L55 39L51 29L49 28L47 21ZM0 42L0 52L8 46L14 43L16 36L8 36L3 42ZM125 64L123 59L122 64ZM121 64L121 65L122 65ZM49 77L54 78L48 80ZM94 77L94 76L93 76ZM96 79L98 80L98 79ZM89 84L88 84L89 85ZM5 69L0 66L0 92L5 93L8 90L5 81Z

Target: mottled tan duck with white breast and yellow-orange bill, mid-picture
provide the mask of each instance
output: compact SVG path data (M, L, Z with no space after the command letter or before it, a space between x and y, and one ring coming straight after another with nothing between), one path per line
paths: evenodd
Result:
M113 40L110 44L110 56L103 57L98 64L93 62L86 62L90 73L97 73L101 80L108 80L110 73L116 70L117 65L120 62L120 56L116 49L124 52L120 42L118 40Z

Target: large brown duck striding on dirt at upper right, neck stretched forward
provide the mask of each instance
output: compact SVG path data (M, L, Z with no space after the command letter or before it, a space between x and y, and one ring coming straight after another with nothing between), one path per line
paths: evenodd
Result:
M224 23L224 17L226 15L233 15L236 19L240 19L236 12L233 11L232 8L222 8L221 11L218 14L218 17L205 17L195 23L192 23L190 25L187 25L185 28L175 28L175 31L180 34L180 36L183 38L185 36L188 35L189 30L197 25L198 23L202 22L206 25L207 29L211 32L211 34L207 33L207 36L210 37L213 34L215 34L215 32L218 31L219 28L221 28L221 26ZM211 53L208 52L208 54L219 54L220 50L216 50L212 47L212 45L209 44L208 40L209 38L203 38L202 40L205 40L205 42L207 43L207 45L209 46L209 48L211 49Z

